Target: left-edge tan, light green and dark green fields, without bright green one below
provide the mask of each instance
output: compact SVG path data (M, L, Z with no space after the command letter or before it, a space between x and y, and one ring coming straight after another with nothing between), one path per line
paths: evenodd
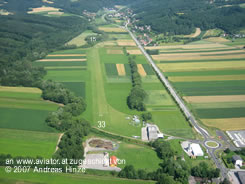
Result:
M42 100L41 90L1 86L0 99L0 128L54 131L46 125L45 118L59 105Z

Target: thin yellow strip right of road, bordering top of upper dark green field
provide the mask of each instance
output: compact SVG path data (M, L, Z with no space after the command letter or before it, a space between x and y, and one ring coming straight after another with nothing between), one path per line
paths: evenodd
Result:
M245 75L181 76L169 77L172 82L245 80Z

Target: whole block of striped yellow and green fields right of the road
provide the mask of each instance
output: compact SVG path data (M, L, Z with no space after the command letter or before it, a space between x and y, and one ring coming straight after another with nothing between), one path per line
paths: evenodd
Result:
M244 129L245 51L240 43L210 37L193 44L156 47L160 54L152 56L193 113L209 127Z

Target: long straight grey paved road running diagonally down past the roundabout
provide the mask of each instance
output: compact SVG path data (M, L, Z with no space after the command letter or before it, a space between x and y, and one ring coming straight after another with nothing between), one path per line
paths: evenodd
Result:
M170 84L170 82L167 80L167 78L164 76L164 74L160 71L160 69L157 67L157 65L153 62L153 60L151 59L151 57L148 55L148 53L142 47L142 45L140 44L140 42L136 39L136 37L134 36L134 34L127 28L127 24L125 25L125 29L129 32L129 34L131 35L131 37L136 42L136 44L139 47L139 49L145 55L145 57L147 58L148 62L151 64L151 66L153 67L153 69L155 70L155 72L157 73L157 75L159 76L159 78L161 79L161 81L164 83L164 85L166 86L166 88L168 89L168 91L170 92L170 94L173 96L173 98L175 99L175 101L179 105L180 109L182 110L182 112L184 113L184 115L186 116L186 118L188 119L188 121L192 124L192 126L195 128L195 130L199 134L201 134L203 136L204 142L206 142L206 141L215 141L215 142L217 142L216 140L212 139L210 137L209 133L197 123L195 117L189 111L189 109L184 104L184 102L180 98L180 96L176 93L176 91L173 88L173 86ZM219 158L217 158L216 155L215 155L215 151L221 148L221 144L220 143L218 143L218 144L219 144L219 147L218 148L215 148L215 149L209 148L205 144L203 144L203 146L205 146L205 148L208 151L210 157L213 159L213 161L216 164L216 166L220 169L222 178L225 178L227 176L228 170L223 165L223 162Z

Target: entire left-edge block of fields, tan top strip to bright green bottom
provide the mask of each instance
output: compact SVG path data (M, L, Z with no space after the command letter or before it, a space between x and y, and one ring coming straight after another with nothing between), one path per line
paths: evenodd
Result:
M59 134L45 119L58 107L56 103L42 100L40 89L1 86L0 153L50 158Z

